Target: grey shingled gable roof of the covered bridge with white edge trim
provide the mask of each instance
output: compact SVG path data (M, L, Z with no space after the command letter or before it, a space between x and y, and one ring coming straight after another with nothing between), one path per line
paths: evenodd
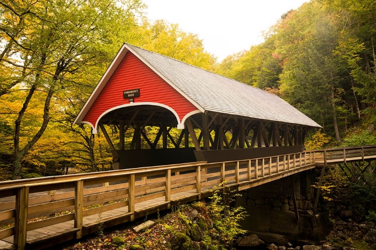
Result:
M140 58L201 111L321 127L275 94L128 43L124 43L116 55L75 123L82 121L119 60L128 51Z

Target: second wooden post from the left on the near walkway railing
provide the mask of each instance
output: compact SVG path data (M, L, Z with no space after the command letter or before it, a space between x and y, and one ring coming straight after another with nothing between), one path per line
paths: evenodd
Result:
M84 181L77 180L74 185L74 227L80 230L76 233L76 238L82 237L83 203Z

